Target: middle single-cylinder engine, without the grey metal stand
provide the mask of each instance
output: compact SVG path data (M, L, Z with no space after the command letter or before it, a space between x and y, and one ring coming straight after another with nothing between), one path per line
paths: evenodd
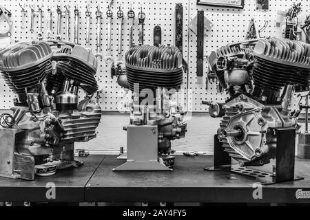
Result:
M132 47L125 54L125 66L128 85L134 93L130 124L157 125L158 154L173 153L171 140L185 137L187 131L185 112L169 98L183 83L180 50L165 45Z

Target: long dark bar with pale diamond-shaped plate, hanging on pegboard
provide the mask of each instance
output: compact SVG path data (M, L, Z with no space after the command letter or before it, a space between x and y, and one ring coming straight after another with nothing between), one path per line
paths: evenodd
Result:
M189 23L189 29L192 30L192 32L194 32L194 34L197 36L196 76L198 84L203 83L204 36L212 27L213 23L211 23L211 21L205 17L203 10L198 11L196 17L194 17L194 19L192 19L192 21Z

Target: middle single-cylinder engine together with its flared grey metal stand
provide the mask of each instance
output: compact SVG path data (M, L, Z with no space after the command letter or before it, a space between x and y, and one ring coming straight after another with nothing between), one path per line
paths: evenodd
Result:
M185 112L169 98L183 83L180 50L174 46L135 46L125 54L132 91L127 130L127 163L114 170L171 170L171 141L185 137ZM168 91L168 89L170 89Z

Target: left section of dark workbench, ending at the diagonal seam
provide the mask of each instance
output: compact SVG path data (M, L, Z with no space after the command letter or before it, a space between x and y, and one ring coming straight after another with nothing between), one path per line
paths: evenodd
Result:
M104 157L76 157L84 162L83 166L57 170L50 177L36 175L34 181L0 177L0 201L83 201L85 185ZM52 184L55 185L56 198L48 199L46 192Z

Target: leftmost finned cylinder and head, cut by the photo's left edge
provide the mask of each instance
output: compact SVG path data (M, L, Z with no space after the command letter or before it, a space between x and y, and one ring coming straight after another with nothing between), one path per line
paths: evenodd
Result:
M52 72L52 50L44 41L14 43L0 50L1 74L14 93L39 85Z

